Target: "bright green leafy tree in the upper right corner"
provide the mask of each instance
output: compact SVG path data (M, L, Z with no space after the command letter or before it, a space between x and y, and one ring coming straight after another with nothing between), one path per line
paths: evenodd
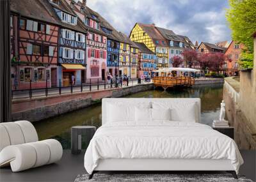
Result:
M246 46L239 61L242 68L253 66L253 37L256 31L256 1L229 0L226 17L232 30L232 39Z

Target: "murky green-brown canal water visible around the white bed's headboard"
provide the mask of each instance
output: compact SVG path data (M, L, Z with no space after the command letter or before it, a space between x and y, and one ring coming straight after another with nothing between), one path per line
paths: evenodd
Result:
M198 86L184 89L170 89L167 93L161 90L144 91L126 96L127 98L201 98L201 123L211 125L218 119L220 103L223 98L223 84ZM101 103L84 109L61 114L54 118L34 123L40 140L57 139L63 149L70 149L70 128L76 125L101 125Z

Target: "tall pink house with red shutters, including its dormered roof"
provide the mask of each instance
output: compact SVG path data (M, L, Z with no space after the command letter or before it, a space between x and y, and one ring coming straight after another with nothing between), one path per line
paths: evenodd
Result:
M86 79L96 82L106 79L107 72L107 36L100 27L99 13L86 6L86 1L65 0L77 17L83 21L83 27L87 29Z

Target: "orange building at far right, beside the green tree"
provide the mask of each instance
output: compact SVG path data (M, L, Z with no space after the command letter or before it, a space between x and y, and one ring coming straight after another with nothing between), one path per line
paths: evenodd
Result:
M243 49L244 45L236 41L232 41L228 46L225 52L225 56L228 57L228 60L225 61L224 64L225 72L228 76L239 75L238 61Z

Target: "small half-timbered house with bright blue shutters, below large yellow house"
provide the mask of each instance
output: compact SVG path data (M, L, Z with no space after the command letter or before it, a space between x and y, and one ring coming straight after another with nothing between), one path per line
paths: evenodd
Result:
M148 49L144 43L134 42L138 46L138 68L137 76L152 74L153 70L156 70L156 54Z

